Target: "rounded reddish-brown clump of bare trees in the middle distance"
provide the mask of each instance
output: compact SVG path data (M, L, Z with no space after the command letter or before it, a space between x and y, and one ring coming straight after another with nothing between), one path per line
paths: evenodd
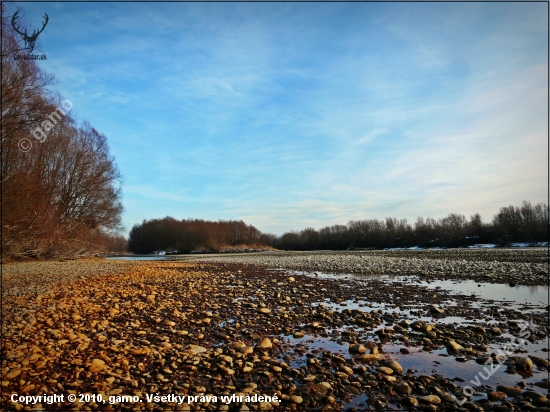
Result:
M157 251L213 252L227 247L258 245L266 245L264 236L242 220L212 222L165 217L134 225L128 236L130 251L140 254Z

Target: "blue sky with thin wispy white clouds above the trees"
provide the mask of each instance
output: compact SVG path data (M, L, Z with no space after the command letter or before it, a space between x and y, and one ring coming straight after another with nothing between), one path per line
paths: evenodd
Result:
M548 3L17 3L123 223L282 234L548 199ZM21 13L20 13L21 14Z

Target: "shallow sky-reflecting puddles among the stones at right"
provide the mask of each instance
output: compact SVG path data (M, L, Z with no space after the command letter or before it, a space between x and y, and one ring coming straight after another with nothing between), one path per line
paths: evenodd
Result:
M394 283L396 288L407 288L407 285L416 287L426 287L434 290L434 293L445 291L448 299L445 300L444 306L469 305L471 307L487 308L489 306L497 306L506 308L507 310L517 310L523 314L546 312L548 305L548 287L547 286L510 286L507 284L491 284L480 283L473 280L435 280L426 281L418 276L391 276L391 275L360 275L360 274L332 274L323 272L299 272L289 271L289 275L306 274L308 276L332 279L335 282L338 280L351 281L352 284L367 285L370 281L384 281L384 283ZM348 285L349 286L349 285ZM473 299L470 299L470 298ZM425 320L436 324L456 324L456 325L474 325L479 324L479 319L464 318L460 316L446 316L442 318L433 318L429 315L415 315L411 311L417 312L417 309L422 308L428 302L418 302L417 304L408 304L401 308L399 305L390 303L369 302L362 299L348 299L339 303L324 301L318 304L323 304L328 309L334 311L342 311L344 309L358 309L363 312L379 312L399 313L400 318L404 317L410 321ZM484 317L483 322L494 323L492 320ZM385 321L382 321L376 329L387 327ZM390 325L391 326L391 325ZM341 329L340 331L343 331ZM406 346L405 343L392 342L380 345L380 341L373 334L374 330L363 330L355 328L357 333L356 340L363 344L367 342L376 342L384 357L391 357L401 364L404 371L411 370L415 375L433 375L435 373L444 375L446 378L455 381L455 384L462 388L466 388L466 392L470 392L471 387L476 392L472 400L486 399L488 390L495 390L497 385L524 386L525 389L534 390L539 393L548 393L548 389L535 386L535 383L541 383L547 380L548 371L541 370L535 366L534 371L530 374L520 375L518 373L507 372L507 365L494 363L491 365L480 365L475 362L475 359L470 359L465 356L450 355L446 348L440 348L432 351L424 351L421 346ZM341 335L331 336L332 330L327 328L326 333L329 337L320 335L306 335L304 338L295 339L292 336L281 336L289 348L287 350L292 353L290 364L292 367L304 366L307 362L306 354L312 355L312 350L330 351L339 354L347 359L351 358L348 352L349 344L343 341L338 342ZM326 336L326 335L325 335ZM486 354L505 353L507 357L513 356L538 356L548 359L546 351L550 346L548 337L540 339L534 343L518 339L517 336L512 336L504 333L502 338L507 340L507 343L493 343L488 345L489 348ZM511 346L512 345L512 346ZM301 352L292 352L293 348L301 348ZM409 354L403 354L400 349L407 348ZM507 350L517 349L515 353L506 353ZM546 349L546 350L544 350ZM483 352L482 352L483 353ZM317 354L319 356L319 354ZM457 360L458 359L458 360ZM459 398L462 398L459 397ZM352 399L344 401L345 408L364 408L364 402L368 399L368 395L359 395ZM399 409L399 408L397 408Z

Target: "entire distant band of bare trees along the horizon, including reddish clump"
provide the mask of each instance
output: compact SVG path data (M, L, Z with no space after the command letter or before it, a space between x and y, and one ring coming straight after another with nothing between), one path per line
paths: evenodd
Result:
M315 230L265 234L243 221L176 220L171 217L135 225L128 239L134 253L155 251L220 251L237 246L269 246L280 250L346 250L398 247L461 247L480 243L507 245L514 242L547 242L548 205L502 207L485 223L476 213L466 219L451 213L442 219L357 220Z

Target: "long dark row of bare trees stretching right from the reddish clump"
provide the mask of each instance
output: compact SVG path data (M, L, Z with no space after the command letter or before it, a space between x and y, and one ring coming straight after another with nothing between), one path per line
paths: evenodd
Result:
M270 245L285 250L345 250L354 248L461 247L478 243L506 245L512 242L548 242L548 205L502 207L492 222L482 221L479 213L466 219L451 213L441 219L419 217L350 221L315 230L286 232L270 237Z

